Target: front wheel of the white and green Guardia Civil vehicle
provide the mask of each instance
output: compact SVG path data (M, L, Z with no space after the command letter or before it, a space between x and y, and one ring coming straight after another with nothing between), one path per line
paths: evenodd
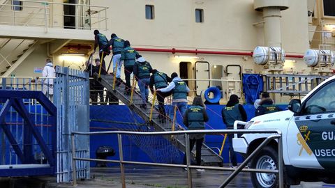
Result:
M278 152L270 146L265 146L258 155L251 160L252 169L276 170L278 166ZM278 174L276 173L251 173L253 187L274 188L278 187Z

